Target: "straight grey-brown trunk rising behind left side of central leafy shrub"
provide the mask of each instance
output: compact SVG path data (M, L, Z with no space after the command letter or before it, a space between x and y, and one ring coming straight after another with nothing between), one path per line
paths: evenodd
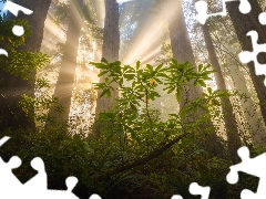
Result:
M103 32L103 45L102 45L102 57L104 57L109 63L119 60L120 50L120 30L119 30L119 4L116 0L105 1L105 19L104 19L104 32ZM104 78L109 74L100 77L100 83L104 82ZM100 113L112 112L115 105L115 98L119 97L119 85L116 83L112 84L114 91L111 93L111 97L101 95L101 91L98 92L95 115L99 118ZM95 133L100 136L101 129L104 126L102 123L95 121Z

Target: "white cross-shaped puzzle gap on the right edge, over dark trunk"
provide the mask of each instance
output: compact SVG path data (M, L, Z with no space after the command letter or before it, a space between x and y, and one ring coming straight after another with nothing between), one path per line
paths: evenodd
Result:
M259 64L257 61L257 55L260 52L266 52L266 44L258 44L258 33L256 31L249 31L247 36L252 38L253 52L243 51L238 54L242 63L254 62L256 75L266 75L266 64ZM266 78L264 80L264 85L266 86Z

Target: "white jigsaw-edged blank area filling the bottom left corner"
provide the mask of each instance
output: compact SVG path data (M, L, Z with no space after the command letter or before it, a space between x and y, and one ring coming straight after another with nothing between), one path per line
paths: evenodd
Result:
M10 137L0 139L2 146ZM65 180L66 190L50 190L47 184L45 166L41 158L31 160L31 167L38 171L24 185L13 175L12 169L20 167L21 159L17 156L4 163L0 157L0 198L27 198L27 199L79 199L73 192L78 178L68 177ZM89 199L101 199L99 195L92 195Z

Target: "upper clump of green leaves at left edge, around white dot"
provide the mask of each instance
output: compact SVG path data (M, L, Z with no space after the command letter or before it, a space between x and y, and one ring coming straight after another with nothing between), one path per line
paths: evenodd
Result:
M12 33L13 25L24 28L23 36L17 36ZM14 76L28 80L32 72L42 67L49 62L49 56L38 53L20 51L19 46L24 45L24 40L31 34L29 24L25 20L7 20L0 18L0 43L1 48L8 51L9 56L0 56L1 69Z

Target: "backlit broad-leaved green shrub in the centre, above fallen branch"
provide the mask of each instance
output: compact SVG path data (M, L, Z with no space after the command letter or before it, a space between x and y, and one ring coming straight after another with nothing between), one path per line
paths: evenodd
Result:
M215 102L218 102L221 97L228 96L226 92L213 91L212 88L208 88L208 94L203 94L201 98L197 97L194 101L187 101L182 95L190 82L193 82L194 86L197 84L206 86L204 82L209 80L208 75L214 72L209 71L209 65L200 65L196 72L188 62L180 64L175 60L172 60L170 65L160 64L156 67L149 64L143 67L140 62L134 67L131 65L121 66L120 62L108 63L106 61L91 64L101 70L99 76L109 74L103 83L95 84L95 90L103 91L100 97L111 96L113 82L119 84L121 91L116 112L101 113L100 115L100 121L110 124L106 127L108 140L114 135L119 135L126 137L126 143L137 142L141 148L157 145L172 136L193 132L194 124L184 124L182 118L193 117L200 108L207 111L212 106L217 106ZM156 91L158 85L163 86L167 93L174 93L178 102L187 101L180 114L170 114L171 119L167 122L162 122L160 113L152 106L152 102L161 97ZM204 116L202 118L201 122L196 123L197 125L206 123L206 118ZM187 129L183 129L182 126L186 126Z

